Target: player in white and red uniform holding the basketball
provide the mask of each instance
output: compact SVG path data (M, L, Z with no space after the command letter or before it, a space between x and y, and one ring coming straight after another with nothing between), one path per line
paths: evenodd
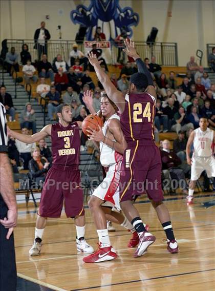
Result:
M91 91L84 92L83 101L90 112L95 114ZM101 98L101 114L105 118L103 128L99 132L89 130L90 139L94 142L99 142L97 146L100 148L100 162L105 169L106 177L95 189L89 201L89 207L94 217L99 237L99 248L92 256L83 258L83 261L86 263L109 261L117 258L117 254L110 242L106 219L122 225L133 233L133 239L130 240L128 246L134 247L139 243L139 237L135 228L127 218L121 213L112 211L113 206L121 210L119 204L119 177L123 158L122 154L127 147L121 130L119 116L116 113L117 110L115 104L103 92ZM134 237L138 237L138 241Z

